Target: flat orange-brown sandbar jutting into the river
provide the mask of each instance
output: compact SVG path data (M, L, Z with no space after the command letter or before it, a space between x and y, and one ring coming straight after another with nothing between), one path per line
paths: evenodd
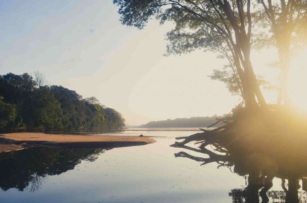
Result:
M139 136L62 135L39 132L0 134L0 152L29 147L114 148L154 143L156 140Z

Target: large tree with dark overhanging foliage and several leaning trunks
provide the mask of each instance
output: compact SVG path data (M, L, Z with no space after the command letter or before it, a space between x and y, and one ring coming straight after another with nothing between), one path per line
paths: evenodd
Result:
M175 23L166 36L167 54L195 49L219 52L235 67L246 106L266 105L251 60L251 2L227 0L114 0L124 25L142 29L151 17Z

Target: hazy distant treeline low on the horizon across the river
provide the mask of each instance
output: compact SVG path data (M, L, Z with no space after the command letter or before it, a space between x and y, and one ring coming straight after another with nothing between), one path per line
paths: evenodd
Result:
M191 118L176 118L174 120L167 119L165 121L150 121L146 124L138 126L139 128L202 128L214 124L221 116L212 117L191 117ZM220 127L221 124L216 124L214 127Z

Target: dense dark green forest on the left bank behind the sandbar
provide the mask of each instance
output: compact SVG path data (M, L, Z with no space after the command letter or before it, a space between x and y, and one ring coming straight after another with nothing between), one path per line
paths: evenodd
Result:
M115 109L95 97L82 99L74 90L47 86L35 72L0 75L0 130L10 131L103 131L125 126Z

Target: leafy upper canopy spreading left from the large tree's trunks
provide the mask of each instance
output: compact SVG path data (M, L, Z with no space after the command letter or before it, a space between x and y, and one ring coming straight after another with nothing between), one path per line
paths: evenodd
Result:
M175 28L166 33L169 40L166 56L196 49L228 51L225 36L215 28L223 27L223 22L209 1L114 0L113 3L120 6L118 13L124 25L142 29L152 17L160 20L160 24L173 22Z

